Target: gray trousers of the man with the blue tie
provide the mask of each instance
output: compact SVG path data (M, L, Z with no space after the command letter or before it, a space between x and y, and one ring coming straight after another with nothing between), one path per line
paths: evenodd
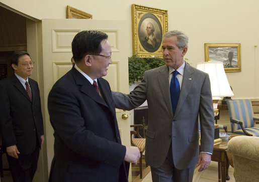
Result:
M153 182L192 182L194 167L187 168L184 170L179 170L175 167L174 161L172 159L172 148L169 147L167 156L164 163L158 167L151 168L151 175Z

